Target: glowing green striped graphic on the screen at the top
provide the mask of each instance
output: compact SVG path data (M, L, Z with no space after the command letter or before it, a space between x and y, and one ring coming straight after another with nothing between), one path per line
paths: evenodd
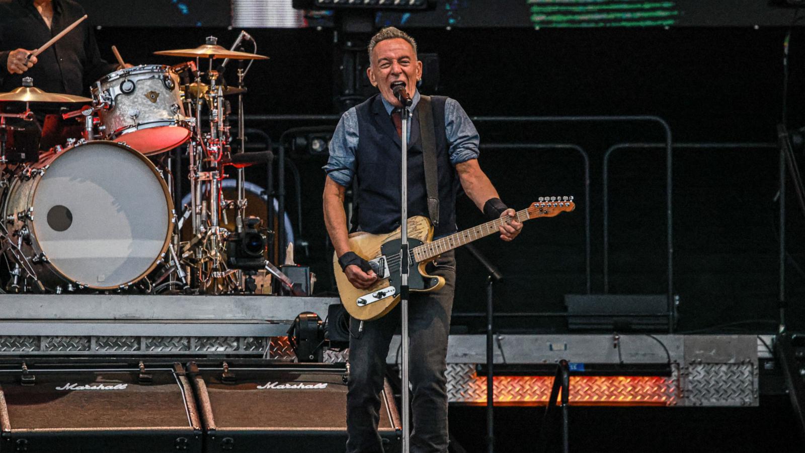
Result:
M527 0L535 28L667 27L674 25L676 2L643 0Z

